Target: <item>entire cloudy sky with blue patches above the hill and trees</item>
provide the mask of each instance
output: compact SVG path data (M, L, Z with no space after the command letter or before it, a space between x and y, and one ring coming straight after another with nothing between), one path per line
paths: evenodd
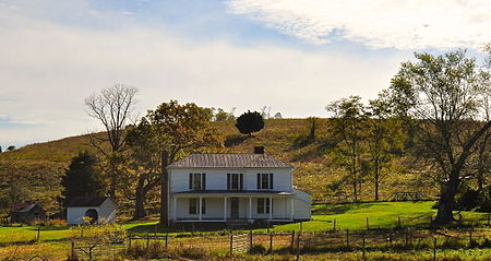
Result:
M488 0L0 0L0 145L100 131L84 99L139 88L133 115L177 99L326 117L388 87L414 52L491 40Z

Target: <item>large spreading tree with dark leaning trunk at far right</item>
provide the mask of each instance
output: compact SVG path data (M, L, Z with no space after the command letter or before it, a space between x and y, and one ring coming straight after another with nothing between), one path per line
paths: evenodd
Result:
M453 221L455 195L478 142L491 128L489 117L489 68L479 67L465 50L441 56L416 54L416 62L404 62L392 79L394 107L417 129L417 143L439 169L436 224Z

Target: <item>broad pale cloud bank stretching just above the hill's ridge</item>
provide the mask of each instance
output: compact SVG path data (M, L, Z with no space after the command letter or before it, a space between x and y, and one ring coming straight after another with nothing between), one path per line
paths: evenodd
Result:
M122 23L122 22L121 22ZM85 112L91 93L121 82L140 87L137 111L178 99L247 109L272 106L285 117L325 116L324 106L373 97L407 59L342 50L299 50L226 39L195 43L165 28L97 31L0 10L0 144L25 144L98 128ZM122 23L124 25L124 23Z

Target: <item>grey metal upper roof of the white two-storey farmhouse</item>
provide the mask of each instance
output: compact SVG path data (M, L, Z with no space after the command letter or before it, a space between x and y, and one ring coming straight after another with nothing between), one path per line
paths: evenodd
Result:
M267 154L208 153L192 154L179 159L168 168L292 168Z

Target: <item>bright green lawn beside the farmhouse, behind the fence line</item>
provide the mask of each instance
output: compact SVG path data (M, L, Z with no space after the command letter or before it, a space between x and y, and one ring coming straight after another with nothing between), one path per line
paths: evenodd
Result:
M398 224L400 217L402 225L428 226L430 217L435 215L436 211L431 209L434 204L431 202L376 202L376 203L347 203L347 204L318 204L312 206L312 221L303 222L304 232L336 229L366 229L367 217L370 228L390 228ZM462 212L465 222L469 220L486 220L484 213ZM134 234L165 233L159 229L157 221L133 222L121 224L125 230ZM275 225L275 232L299 230L300 224ZM195 229L200 232L200 229ZM258 229L265 230L265 229ZM168 230L173 235L191 234L182 229ZM202 229L203 233L216 233L219 229ZM40 241L52 241L64 238L77 237L81 234L80 228L74 227L41 227ZM19 242L34 240L37 236L37 227L0 227L0 244Z

